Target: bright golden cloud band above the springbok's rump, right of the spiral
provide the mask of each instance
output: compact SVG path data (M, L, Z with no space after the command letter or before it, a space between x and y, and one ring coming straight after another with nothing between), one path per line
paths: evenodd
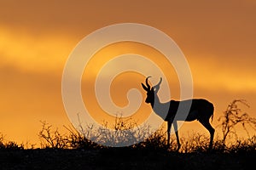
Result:
M251 63L243 65L241 62L230 62L230 57L221 61L215 56L190 56L189 65L194 77L195 87L218 91L219 89L230 92L256 92L255 71ZM242 59L241 59L242 60Z

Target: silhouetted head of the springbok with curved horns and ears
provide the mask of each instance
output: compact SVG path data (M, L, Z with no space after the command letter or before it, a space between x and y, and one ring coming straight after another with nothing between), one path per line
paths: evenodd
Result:
M155 86L153 86L152 88L150 87L150 85L148 84L148 78L146 78L146 85L144 85L142 83L142 86L144 88L144 90L147 92L147 98L145 100L146 103L151 103L154 105L154 96L157 94L159 88L160 88L160 83L162 82L162 77L160 77L160 82L158 82Z

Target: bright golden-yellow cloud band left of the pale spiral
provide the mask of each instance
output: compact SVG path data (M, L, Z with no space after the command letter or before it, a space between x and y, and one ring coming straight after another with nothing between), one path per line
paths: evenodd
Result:
M70 37L34 36L26 31L0 27L0 67L12 65L24 71L60 70L73 46L75 41Z

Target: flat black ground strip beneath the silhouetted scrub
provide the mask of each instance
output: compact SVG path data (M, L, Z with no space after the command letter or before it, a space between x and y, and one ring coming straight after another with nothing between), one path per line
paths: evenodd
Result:
M0 150L0 169L254 169L256 153L177 153L165 150Z

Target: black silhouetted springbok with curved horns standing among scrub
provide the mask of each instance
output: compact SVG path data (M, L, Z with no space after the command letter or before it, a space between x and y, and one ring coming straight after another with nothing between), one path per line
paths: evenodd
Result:
M215 132L215 129L209 122L210 117L213 118L214 107L212 103L207 101L206 99L186 99L182 101L171 100L166 103L160 103L157 92L160 89L160 83L162 82L162 78L160 77L160 82L152 88L148 84L148 78L149 77L146 78L146 86L142 83L144 90L147 91L147 99L145 100L145 102L152 106L155 114L157 114L165 122L167 122L167 144L170 144L170 131L172 124L177 138L177 150L179 150L181 144L179 143L177 133L177 121L191 122L198 120L209 131L211 136L209 148L212 148L213 135ZM177 115L177 108L180 104L191 104L188 116L184 117L182 115Z

